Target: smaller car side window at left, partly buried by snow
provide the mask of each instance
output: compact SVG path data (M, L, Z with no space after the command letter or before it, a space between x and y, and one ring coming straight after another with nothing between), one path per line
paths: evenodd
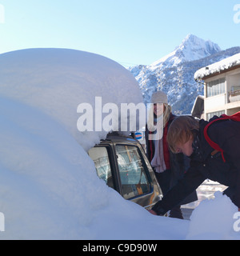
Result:
M114 181L110 166L108 150L105 146L93 147L88 151L94 161L99 178L102 178L108 186L114 189Z

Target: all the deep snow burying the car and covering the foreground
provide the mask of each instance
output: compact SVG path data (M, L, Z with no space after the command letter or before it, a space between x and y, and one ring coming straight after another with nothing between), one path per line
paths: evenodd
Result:
M240 238L232 226L237 209L222 194L200 204L189 222L154 216L106 186L86 153L106 132L76 126L78 104L94 105L95 96L142 102L130 72L96 54L0 55L1 239Z

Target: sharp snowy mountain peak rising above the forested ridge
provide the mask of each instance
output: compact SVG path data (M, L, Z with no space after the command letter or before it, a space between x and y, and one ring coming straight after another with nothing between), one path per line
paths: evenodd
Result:
M151 68L156 66L177 66L182 62L191 62L200 58L206 58L212 54L221 51L218 44L205 41L198 38L194 34L188 34L182 41L180 46L176 47L173 52L160 58L157 62L154 62Z

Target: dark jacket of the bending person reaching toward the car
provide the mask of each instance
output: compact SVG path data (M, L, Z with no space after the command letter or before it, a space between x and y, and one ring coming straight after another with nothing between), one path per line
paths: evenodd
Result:
M226 162L223 162L220 152L213 154L214 149L206 142L203 130L207 124L204 120L199 122L200 129L193 143L194 153L190 156L190 169L162 201L153 207L157 214L165 214L178 205L182 198L196 190L206 178L228 186L225 194L240 208L240 122L220 121L208 129L211 140L224 151Z

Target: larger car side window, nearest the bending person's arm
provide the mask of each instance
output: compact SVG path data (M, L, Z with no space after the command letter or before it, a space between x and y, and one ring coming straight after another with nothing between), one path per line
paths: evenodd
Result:
M137 146L117 145L118 169L122 182L123 197L126 199L150 193L150 178Z

